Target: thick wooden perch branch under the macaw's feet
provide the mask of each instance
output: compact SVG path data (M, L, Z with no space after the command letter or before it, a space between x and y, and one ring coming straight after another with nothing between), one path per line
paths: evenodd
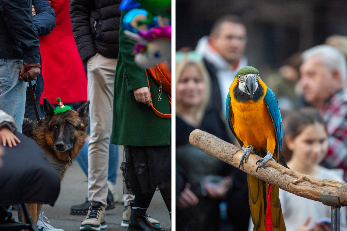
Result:
M210 133L195 129L189 136L189 142L196 148L218 158L229 165L238 167L243 150ZM282 165L268 161L256 172L256 161L260 159L250 154L247 162L243 161L240 170L266 181L287 192L322 202L320 194L338 196L340 204L346 206L346 183L335 180L318 179L292 171Z

